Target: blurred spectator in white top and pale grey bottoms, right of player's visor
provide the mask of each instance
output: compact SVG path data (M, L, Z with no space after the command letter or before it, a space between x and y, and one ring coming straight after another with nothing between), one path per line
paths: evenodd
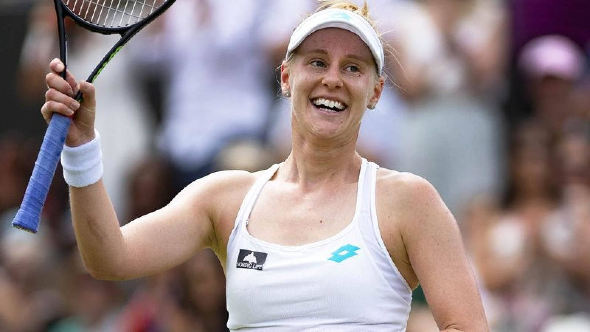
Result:
M391 16L409 108L398 168L430 180L454 213L499 190L504 15L499 1L426 0Z

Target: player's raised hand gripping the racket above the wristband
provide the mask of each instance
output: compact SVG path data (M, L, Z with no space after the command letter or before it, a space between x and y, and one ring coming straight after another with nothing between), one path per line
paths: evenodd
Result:
M53 113L69 116L72 119L65 145L77 147L94 139L94 118L96 115L96 98L94 86L91 83L80 81L76 83L74 76L68 71L67 79L63 79L60 73L65 66L60 59L53 59L49 64L51 72L45 76L47 93L45 104L41 108L41 114L49 123ZM78 103L74 99L77 90L82 91L83 100Z

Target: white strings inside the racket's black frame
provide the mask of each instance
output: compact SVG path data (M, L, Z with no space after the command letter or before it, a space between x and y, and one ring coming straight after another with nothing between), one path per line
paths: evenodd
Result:
M165 0L62 0L71 12L100 27L126 27L153 14Z

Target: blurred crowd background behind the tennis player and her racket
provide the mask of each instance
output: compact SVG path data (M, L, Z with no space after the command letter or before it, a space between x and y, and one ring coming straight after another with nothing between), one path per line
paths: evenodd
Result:
M492 331L590 331L590 1L368 3L391 52L360 154L438 189ZM315 5L178 0L111 61L96 82L97 129L122 223L212 171L286 157L276 67ZM53 2L0 0L0 28L0 331L225 331L210 251L149 278L91 278L59 167L38 235L13 229L46 128ZM118 37L68 29L69 69L86 79ZM408 331L438 331L419 288Z

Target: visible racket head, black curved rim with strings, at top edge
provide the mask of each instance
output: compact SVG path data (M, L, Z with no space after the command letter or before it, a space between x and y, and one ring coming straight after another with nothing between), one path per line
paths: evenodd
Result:
M78 25L101 34L124 34L147 24L175 0L55 0L63 15Z

